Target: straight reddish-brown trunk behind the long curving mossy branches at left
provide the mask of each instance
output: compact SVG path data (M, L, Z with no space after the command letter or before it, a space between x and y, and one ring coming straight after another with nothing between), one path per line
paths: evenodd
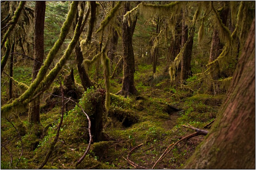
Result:
M45 1L36 1L35 7L35 35L34 35L34 64L32 81L36 79L37 73L44 59L44 16ZM38 62L39 61L39 62ZM40 123L40 96L30 103L28 112L28 122L32 124Z

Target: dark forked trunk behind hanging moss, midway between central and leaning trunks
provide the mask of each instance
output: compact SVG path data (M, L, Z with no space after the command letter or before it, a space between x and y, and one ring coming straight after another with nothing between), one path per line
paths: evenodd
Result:
M181 59L181 73L180 73L180 83L182 84L184 80L188 78L190 74L190 62L192 55L192 47L193 47L193 38L195 28L191 28L190 30L190 38L188 39L188 25L186 25L185 16L187 15L187 10L183 11L183 20L182 20L182 33L181 33L181 47L185 45L187 42L187 46L184 49L182 59Z

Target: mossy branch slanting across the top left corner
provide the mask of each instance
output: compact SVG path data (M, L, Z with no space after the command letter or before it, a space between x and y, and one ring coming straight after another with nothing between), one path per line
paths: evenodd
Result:
M24 7L25 4L26 4L26 1L20 1L20 4L19 4L17 10L14 12L12 20L8 23L8 24L11 24L11 26L9 27L7 32L4 34L3 40L1 42L1 49L3 48L4 43L7 40L8 36L10 35L10 33L12 32L13 28L17 24L17 22L18 22L18 20L20 18L21 11L23 10L23 7Z

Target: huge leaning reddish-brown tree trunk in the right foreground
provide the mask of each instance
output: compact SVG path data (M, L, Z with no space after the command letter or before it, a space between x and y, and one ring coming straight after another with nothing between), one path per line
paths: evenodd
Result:
M216 121L185 169L255 169L255 18Z

